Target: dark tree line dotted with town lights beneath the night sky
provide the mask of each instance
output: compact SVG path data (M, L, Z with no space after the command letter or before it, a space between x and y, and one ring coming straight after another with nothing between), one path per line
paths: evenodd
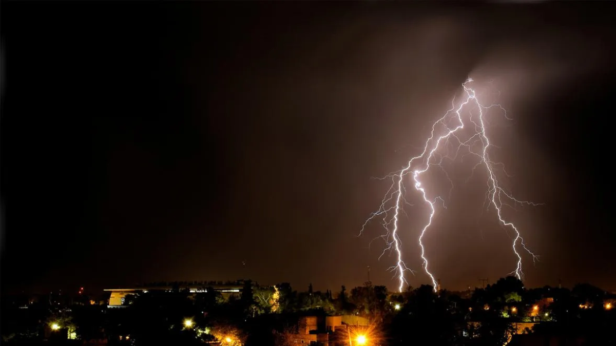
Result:
M516 324L536 335L614 344L614 295L590 284L573 289L527 289L509 276L484 289L435 292L432 286L389 292L370 282L337 291L296 291L289 283L261 286L243 281L238 296L215 289L189 292L151 289L127 296L125 308L107 308L84 297L73 305L43 300L28 308L3 304L3 344L43 340L60 334L75 342L107 339L108 345L290 346L302 316L354 315L369 321L370 345L494 345L515 342ZM351 328L352 326L349 326ZM325 331L322 331L325 332ZM67 335L68 333L68 335ZM335 334L335 333L334 333ZM330 345L349 340L332 334Z

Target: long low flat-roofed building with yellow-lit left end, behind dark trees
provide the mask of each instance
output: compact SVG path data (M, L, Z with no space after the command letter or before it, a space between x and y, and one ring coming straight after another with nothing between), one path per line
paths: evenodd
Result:
M176 286L142 286L138 288L112 288L105 289L104 291L110 292L108 307L118 308L128 305L128 296L139 295L150 291L156 292L172 292L174 290L188 291L193 296L197 293L208 292L208 289L213 289L216 292L220 292L224 299L229 299L231 296L237 298L240 297L243 289L243 283L227 283L227 284L209 284L204 286L203 284L185 284Z

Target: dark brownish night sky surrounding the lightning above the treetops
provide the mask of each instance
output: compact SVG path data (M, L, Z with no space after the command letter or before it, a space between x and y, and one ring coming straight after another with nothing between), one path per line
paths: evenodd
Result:
M468 76L513 118L491 127L503 185L545 203L507 212L541 255L524 257L525 284L616 289L615 2L15 1L1 15L3 289L337 291L368 265L395 289L393 254L368 248L378 223L357 237L389 186L372 178L420 152ZM444 288L515 268L484 193L480 177L457 185L426 236ZM416 287L426 210L407 213Z

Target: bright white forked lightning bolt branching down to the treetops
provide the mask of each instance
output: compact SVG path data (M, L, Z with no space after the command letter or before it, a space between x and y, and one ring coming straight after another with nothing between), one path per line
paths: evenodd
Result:
M512 222L509 222L502 215L502 207L503 205L511 206L509 203L515 204L526 204L537 206L538 203L532 203L529 201L521 201L519 199L514 198L510 193L505 191L498 179L496 177L495 167L501 166L503 167L501 170L507 175L505 172L504 166L501 163L495 163L490 159L489 148L491 146L490 140L488 139L488 135L486 133L485 119L484 119L484 111L490 108L498 108L498 110L502 111L505 118L507 117L507 113L503 107L500 105L490 105L484 106L477 99L477 94L474 89L468 86L469 83L472 82L472 79L466 80L462 84L464 89L464 94L466 96L464 102L460 103L456 108L455 103L452 102L452 109L447 111L442 118L438 119L434 124L432 124L432 131L430 136L425 142L423 152L411 158L407 165L400 171L394 172L392 174L387 175L383 179L391 179L392 184L387 190L386 195L381 201L381 205L379 206L378 211L373 212L370 217L363 223L362 230L360 235L363 233L365 227L367 227L368 223L376 218L381 218L383 228L385 229L385 233L377 238L383 238L386 242L386 247L383 249L381 256L379 259L383 257L383 255L387 251L394 251L396 255L396 264L389 269L394 272L394 277L397 275L399 280L399 291L402 291L404 285L407 283L405 278L405 272L410 271L407 265L402 260L402 244L399 238L399 216L400 212L404 212L403 204L410 205L404 198L406 189L403 183L403 180L407 175L411 175L413 178L413 182L415 182L415 190L419 192L419 195L423 199L423 202L429 207L429 214L427 215L427 222L423 228L421 228L421 232L419 233L418 244L421 249L420 255L422 259L422 267L425 272L430 277L432 281L432 287L434 290L437 289L437 281L434 278L434 275L429 270L429 262L426 257L426 249L423 243L423 238L428 232L430 226L432 225L432 219L434 214L436 213L437 201L441 201L443 206L445 207L444 199L440 196L436 198L429 198L429 193L424 188L421 177L424 173L428 172L430 167L439 166L445 175L449 179L447 175L447 171L445 171L442 166L442 162L444 159L448 159L452 162L455 162L460 156L461 149L465 149L466 151L464 155L461 156L461 159L464 156L472 155L476 156L478 162L473 167L472 173L474 174L477 167L485 167L485 171L487 172L488 180L487 180L487 191L486 191L486 203L489 208L490 205L494 206L496 209L496 216L500 221L503 227L509 228L513 230L514 237L513 243L511 244L513 248L513 252L517 258L516 268L513 272L509 273L517 276L520 280L522 280L524 273L522 272L522 256L519 252L519 246L522 246L524 251L527 251L530 255L532 255L533 262L538 258L537 255L531 252L526 244L524 243L524 239L516 225ZM467 112L464 112L466 108L469 108ZM466 131L466 132L464 132ZM440 135L439 135L440 134ZM463 139L464 138L464 139ZM445 153L440 153L439 149L444 148ZM453 150L453 155L450 154L452 150L450 148L455 148ZM472 174L471 174L472 177ZM470 179L470 177L469 177ZM451 179L450 183L453 182ZM468 181L468 180L467 180ZM451 194L451 190L450 190ZM391 215L392 214L392 215ZM391 215L391 216L390 216ZM376 238L375 238L376 239Z

